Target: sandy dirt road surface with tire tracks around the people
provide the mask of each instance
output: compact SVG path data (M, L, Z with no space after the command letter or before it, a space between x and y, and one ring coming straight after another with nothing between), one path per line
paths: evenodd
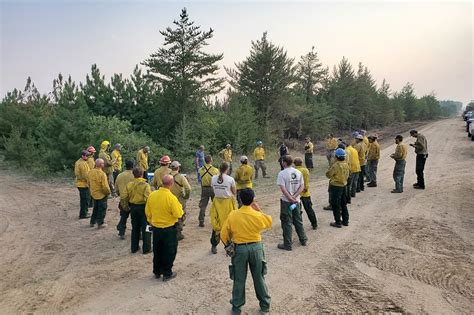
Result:
M275 313L474 313L474 142L459 119L421 130L429 141L427 190L413 190L410 151L405 193L391 194L394 146L382 150L379 187L350 205L350 226L329 227L322 211L327 181L315 178L320 228L304 217L309 246L276 249L281 238L274 178L257 186L259 203L274 218L264 234L267 283ZM413 140L408 140L412 142ZM231 281L222 247L209 251L209 224L199 229L191 200L186 239L178 249L178 277L153 279L152 256L132 255L116 236L116 202L109 228L78 221L74 187L0 173L1 313L227 313ZM271 189L270 189L271 188ZM250 279L249 279L250 280ZM258 303L248 282L244 311Z

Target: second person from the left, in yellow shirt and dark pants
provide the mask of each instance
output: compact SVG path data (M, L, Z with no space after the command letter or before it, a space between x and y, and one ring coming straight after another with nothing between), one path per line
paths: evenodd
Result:
M95 168L91 170L87 176L87 184L94 200L94 210L92 211L90 226L97 228L105 228L104 223L107 212L107 197L110 195L109 181L104 172L104 160L95 160Z

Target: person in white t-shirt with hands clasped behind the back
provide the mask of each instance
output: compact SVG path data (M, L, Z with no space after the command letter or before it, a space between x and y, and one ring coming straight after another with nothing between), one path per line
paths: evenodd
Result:
M282 195L280 197L280 220L283 230L283 243L278 244L279 249L292 250L292 226L302 246L306 246L308 238L303 228L300 210L300 195L304 190L303 175L292 167L293 157L285 156L283 166L285 169L278 173L277 185Z

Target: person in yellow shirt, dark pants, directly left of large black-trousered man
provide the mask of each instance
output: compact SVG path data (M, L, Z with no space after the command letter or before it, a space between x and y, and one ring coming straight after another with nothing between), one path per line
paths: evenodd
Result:
M146 179L143 178L143 170L140 166L133 169L133 182L127 184L125 192L120 195L120 203L123 208L130 208L132 217L131 251L136 253L139 249L140 236L143 239L143 254L151 252L151 235L146 231L147 220L145 216L145 204L150 196L151 188Z

